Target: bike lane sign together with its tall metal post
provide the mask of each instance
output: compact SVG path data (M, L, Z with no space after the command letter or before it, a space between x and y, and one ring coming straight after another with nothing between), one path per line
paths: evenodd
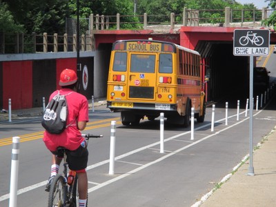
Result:
M234 47L233 54L235 56L250 57L249 72L249 168L247 175L254 175L253 167L253 57L268 56L269 30L234 30Z

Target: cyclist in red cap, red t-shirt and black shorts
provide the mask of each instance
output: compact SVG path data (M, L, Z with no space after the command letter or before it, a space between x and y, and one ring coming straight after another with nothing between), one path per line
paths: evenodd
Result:
M45 130L43 141L52 152L51 175L46 185L46 191L49 192L50 184L53 178L59 172L59 165L63 155L57 155L57 147L62 146L66 149L67 162L70 170L77 172L78 190L79 190L79 206L85 207L88 192L88 178L86 174L86 166L88 162L88 150L86 146L81 146L84 141L81 137L80 130L86 128L88 118L88 100L86 97L76 92L77 90L77 74L74 70L65 69L61 72L59 79L60 95L66 95L68 104L67 127L59 135L50 134ZM58 90L50 95L51 100L57 95Z

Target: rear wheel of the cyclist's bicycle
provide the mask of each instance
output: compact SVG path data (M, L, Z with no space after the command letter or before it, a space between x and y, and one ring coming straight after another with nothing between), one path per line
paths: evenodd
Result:
M62 175L57 175L52 181L49 198L48 207L62 207L66 202L66 182Z

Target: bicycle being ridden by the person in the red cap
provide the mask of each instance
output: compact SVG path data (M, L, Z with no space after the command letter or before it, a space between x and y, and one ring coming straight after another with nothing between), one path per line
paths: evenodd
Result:
M103 135L81 135L86 138L88 144L89 138L99 138ZM77 189L77 174L73 172L69 175L68 163L66 161L66 148L59 147L57 150L61 150L63 153L63 173L58 174L52 181L50 186L50 192L48 197L48 207L77 207L78 205L78 189ZM69 182L71 181L71 182ZM88 200L88 199L87 199ZM86 201L87 206L88 201Z

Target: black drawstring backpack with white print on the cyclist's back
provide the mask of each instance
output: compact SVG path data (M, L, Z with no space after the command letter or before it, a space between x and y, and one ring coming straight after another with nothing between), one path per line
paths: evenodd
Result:
M72 92L68 93L70 95ZM68 117L67 95L55 95L43 111L41 125L50 134L60 134L66 129Z

